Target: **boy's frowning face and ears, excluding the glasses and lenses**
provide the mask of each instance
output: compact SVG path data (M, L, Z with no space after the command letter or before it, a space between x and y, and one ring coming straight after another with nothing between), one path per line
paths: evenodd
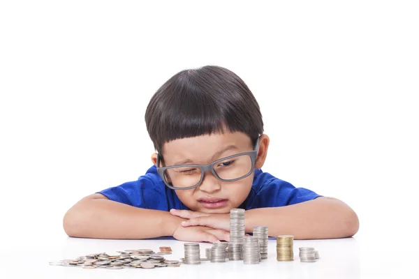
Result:
M256 158L256 168L265 162L269 137L260 136L260 147ZM253 144L244 133L215 133L199 137L173 140L163 145L165 166L181 164L205 165L237 153L252 151ZM152 161L156 165L156 153ZM187 160L187 162L186 162ZM228 161L228 160L227 160ZM223 167L230 164L223 163ZM162 165L161 165L162 167ZM247 198L253 183L253 172L237 181L223 182L211 172L205 172L200 186L188 190L175 190L180 201L193 211L203 213L229 213Z

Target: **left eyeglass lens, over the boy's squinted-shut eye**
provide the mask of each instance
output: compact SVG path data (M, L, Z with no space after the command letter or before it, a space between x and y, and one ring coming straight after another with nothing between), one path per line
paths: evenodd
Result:
M164 171L166 181L175 188L196 186L201 178L198 167L172 167Z

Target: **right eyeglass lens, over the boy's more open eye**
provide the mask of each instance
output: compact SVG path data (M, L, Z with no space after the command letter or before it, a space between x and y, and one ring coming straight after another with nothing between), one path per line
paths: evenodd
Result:
M251 158L249 155L241 155L223 160L214 165L214 170L221 179L239 179L251 172Z

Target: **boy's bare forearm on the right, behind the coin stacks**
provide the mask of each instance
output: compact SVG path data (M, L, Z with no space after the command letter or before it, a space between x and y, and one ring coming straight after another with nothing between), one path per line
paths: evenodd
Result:
M338 199L318 197L290 206L246 211L246 232L268 226L270 236L291 234L295 239L335 239L353 236L359 223L355 212Z

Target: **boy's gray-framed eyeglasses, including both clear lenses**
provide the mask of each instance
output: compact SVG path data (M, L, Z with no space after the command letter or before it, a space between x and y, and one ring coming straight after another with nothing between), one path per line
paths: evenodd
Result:
M259 150L259 138L253 151L242 152L216 160L208 165L172 165L159 167L163 158L157 156L157 172L166 186L174 190L188 190L200 186L205 172L212 172L220 181L230 182L249 176L256 163Z

